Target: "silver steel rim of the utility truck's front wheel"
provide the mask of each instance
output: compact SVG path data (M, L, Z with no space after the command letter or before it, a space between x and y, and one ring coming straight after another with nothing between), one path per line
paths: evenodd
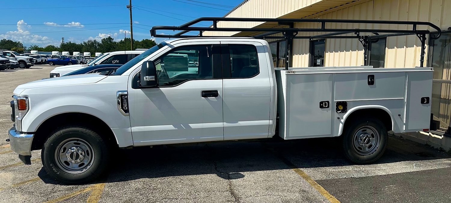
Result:
M88 170L94 161L92 146L83 139L69 138L55 149L55 161L61 170L79 174Z

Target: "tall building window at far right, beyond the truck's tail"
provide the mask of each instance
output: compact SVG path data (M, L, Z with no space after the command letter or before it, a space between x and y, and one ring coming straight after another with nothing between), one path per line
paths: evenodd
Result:
M428 64L434 68L431 112L444 135L451 135L451 32L429 41Z

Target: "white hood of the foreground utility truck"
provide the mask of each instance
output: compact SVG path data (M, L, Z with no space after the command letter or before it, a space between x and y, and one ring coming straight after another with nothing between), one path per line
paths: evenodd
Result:
M99 74L83 74L83 75L66 76L66 77L46 78L43 80L37 80L37 81L25 83L23 85L19 85L19 86L17 86L16 90L14 90L14 94L18 95L23 90L27 90L27 89L96 83L106 77L107 76L99 75Z

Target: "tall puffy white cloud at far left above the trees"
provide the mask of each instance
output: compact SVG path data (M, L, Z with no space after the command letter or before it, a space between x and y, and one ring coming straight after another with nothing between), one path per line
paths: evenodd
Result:
M47 46L49 44L59 45L59 41L37 34L32 34L28 31L28 28L31 28L30 25L27 25L23 20L19 20L17 22L17 31L9 31L6 34L0 34L0 38L10 39L13 41L20 41L23 45L27 46L30 44L36 44L40 46Z

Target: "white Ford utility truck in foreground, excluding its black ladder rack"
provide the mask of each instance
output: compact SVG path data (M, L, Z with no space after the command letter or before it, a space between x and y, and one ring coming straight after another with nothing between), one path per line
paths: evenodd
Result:
M102 174L117 148L341 136L345 157L365 164L387 131L430 127L432 68L284 70L271 51L256 38L172 39L110 75L19 85L11 148L25 164L42 149L44 169L74 184Z

